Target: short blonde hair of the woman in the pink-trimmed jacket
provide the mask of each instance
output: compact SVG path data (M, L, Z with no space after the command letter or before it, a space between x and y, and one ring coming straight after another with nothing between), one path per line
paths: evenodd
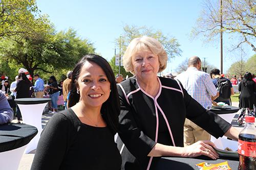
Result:
M134 38L127 46L127 49L123 55L123 67L127 72L130 71L132 74L134 74L132 57L137 52L141 51L150 51L158 56L160 63L158 72L161 72L166 68L168 57L161 43L155 38L143 36Z

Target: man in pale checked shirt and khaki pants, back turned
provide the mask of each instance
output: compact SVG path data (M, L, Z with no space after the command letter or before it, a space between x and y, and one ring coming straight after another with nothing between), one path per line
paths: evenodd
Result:
M188 59L188 68L176 77L188 94L205 109L211 108L211 101L218 98L219 93L212 83L209 74L201 71L201 60L194 56ZM184 147L199 140L209 140L210 134L186 119L184 124Z

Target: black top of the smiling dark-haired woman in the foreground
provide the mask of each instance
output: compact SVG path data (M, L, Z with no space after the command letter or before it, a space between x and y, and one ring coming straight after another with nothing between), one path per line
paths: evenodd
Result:
M72 109L55 113L42 131L31 169L120 169L108 127L80 122Z

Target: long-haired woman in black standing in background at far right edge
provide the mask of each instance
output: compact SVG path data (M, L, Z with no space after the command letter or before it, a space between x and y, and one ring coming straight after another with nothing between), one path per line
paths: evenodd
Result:
M238 85L238 90L241 91L241 93L239 99L240 114L238 116L237 122L238 125L242 125L246 110L249 116L255 115L253 105L255 103L254 92L256 92L256 85L252 80L250 72L246 72L244 78Z

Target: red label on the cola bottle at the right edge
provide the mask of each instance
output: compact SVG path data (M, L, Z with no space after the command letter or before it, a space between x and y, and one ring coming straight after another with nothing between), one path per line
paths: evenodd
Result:
M238 154L256 158L256 142L238 140Z

